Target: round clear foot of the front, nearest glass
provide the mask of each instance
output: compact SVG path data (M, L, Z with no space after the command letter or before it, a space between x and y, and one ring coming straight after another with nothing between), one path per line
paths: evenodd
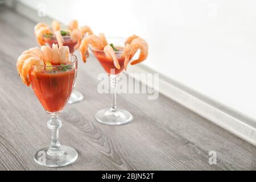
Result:
M49 146L40 149L34 155L34 160L38 164L47 167L61 167L71 164L77 159L77 152L74 148L68 146L61 146L61 148L65 151L64 154L61 155L48 155L47 150Z

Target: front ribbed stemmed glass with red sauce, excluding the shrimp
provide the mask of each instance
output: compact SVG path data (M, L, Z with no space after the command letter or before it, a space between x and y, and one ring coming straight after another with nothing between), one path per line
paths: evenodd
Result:
M44 72L31 72L31 86L36 97L51 116L47 122L51 130L50 146L36 152L34 160L47 167L60 167L75 162L77 152L74 148L60 145L59 128L62 123L58 115L71 96L77 75L77 57L69 54L71 63L65 65L44 66ZM34 69L42 67L33 65Z

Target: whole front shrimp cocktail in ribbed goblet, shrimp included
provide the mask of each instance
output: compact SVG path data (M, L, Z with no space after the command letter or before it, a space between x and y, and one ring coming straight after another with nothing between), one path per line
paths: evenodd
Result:
M51 145L36 152L34 159L42 166L65 166L77 159L72 147L59 142L61 121L58 115L71 96L77 74L77 58L68 46L35 47L28 49L17 60L17 71L23 83L31 86L46 113L51 115L47 126L51 129Z

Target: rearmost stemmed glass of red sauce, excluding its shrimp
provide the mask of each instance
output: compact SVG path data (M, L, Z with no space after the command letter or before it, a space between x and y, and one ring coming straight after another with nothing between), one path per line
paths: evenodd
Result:
M77 42L73 42L71 39L71 36L69 36L69 35L62 36L62 37L64 40L63 46L68 46L70 53L75 52L74 47L76 46ZM57 39L55 38L54 35L51 38L44 38L44 39L46 40L46 43L51 47L52 47L52 44L58 44ZM73 92L71 93L71 97L68 100L68 104L74 104L74 103L82 101L83 99L84 99L84 96L82 96L81 92L79 92L77 90L73 90Z

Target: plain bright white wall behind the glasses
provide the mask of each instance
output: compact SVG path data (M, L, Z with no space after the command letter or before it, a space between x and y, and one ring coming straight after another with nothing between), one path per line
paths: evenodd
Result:
M20 1L106 36L138 34L150 45L144 64L256 118L256 1Z

